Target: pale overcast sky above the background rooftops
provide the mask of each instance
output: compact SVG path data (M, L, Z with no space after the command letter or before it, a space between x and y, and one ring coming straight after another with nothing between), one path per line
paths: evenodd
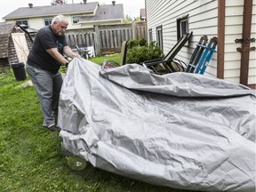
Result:
M20 7L28 7L31 3L34 6L51 5L51 0L0 0L0 22L2 18ZM68 0L68 4L79 4L83 0ZM100 4L112 4L112 0L87 0L87 2L99 2ZM135 3L136 2L136 3ZM124 5L124 16L132 19L140 16L140 9L145 8L145 0L116 0L116 4Z

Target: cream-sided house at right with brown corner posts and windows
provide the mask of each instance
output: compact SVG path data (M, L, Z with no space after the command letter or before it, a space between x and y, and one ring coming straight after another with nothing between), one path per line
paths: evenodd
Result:
M183 33L193 31L189 44L177 55L188 62L201 36L218 36L217 52L205 76L255 88L255 0L146 0L145 5L148 40L156 40L165 54Z

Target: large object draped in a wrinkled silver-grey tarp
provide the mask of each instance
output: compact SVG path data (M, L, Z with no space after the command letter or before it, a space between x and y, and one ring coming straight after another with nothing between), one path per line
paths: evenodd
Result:
M242 84L77 58L58 125L64 150L108 172L171 188L255 190L255 92Z

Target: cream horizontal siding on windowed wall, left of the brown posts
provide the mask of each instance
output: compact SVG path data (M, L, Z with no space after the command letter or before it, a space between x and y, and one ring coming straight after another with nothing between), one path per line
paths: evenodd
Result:
M164 54L168 53L177 43L177 19L188 15L188 30L193 31L193 37L188 46L182 47L177 59L188 63L188 60L196 47L196 43L203 35L217 36L217 1L204 0L194 2L193 0L156 1L147 0L148 28L152 28L153 39L156 40L156 26L163 25ZM216 76L217 69L216 53L207 68L209 76ZM210 69L210 70L209 70ZM208 72L209 71L209 72Z

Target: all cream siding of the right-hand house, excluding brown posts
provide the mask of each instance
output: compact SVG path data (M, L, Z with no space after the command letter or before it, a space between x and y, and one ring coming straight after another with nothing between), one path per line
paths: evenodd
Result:
M226 0L226 26L225 26L225 57L224 79L239 83L241 53L236 51L241 44L236 44L236 38L242 38L243 31L243 0ZM176 20L188 15L188 30L193 31L193 37L188 46L184 46L177 59L188 62L196 43L200 37L208 38L218 35L218 1L216 0L146 0L148 29L152 29L153 40L156 41L156 27L163 27L164 54L177 43ZM252 7L252 36L255 36L255 0ZM255 43L251 44L251 47ZM218 46L217 46L218 51ZM256 83L255 52L250 54L248 84ZM206 69L205 76L217 76L217 53L212 57L210 66Z

